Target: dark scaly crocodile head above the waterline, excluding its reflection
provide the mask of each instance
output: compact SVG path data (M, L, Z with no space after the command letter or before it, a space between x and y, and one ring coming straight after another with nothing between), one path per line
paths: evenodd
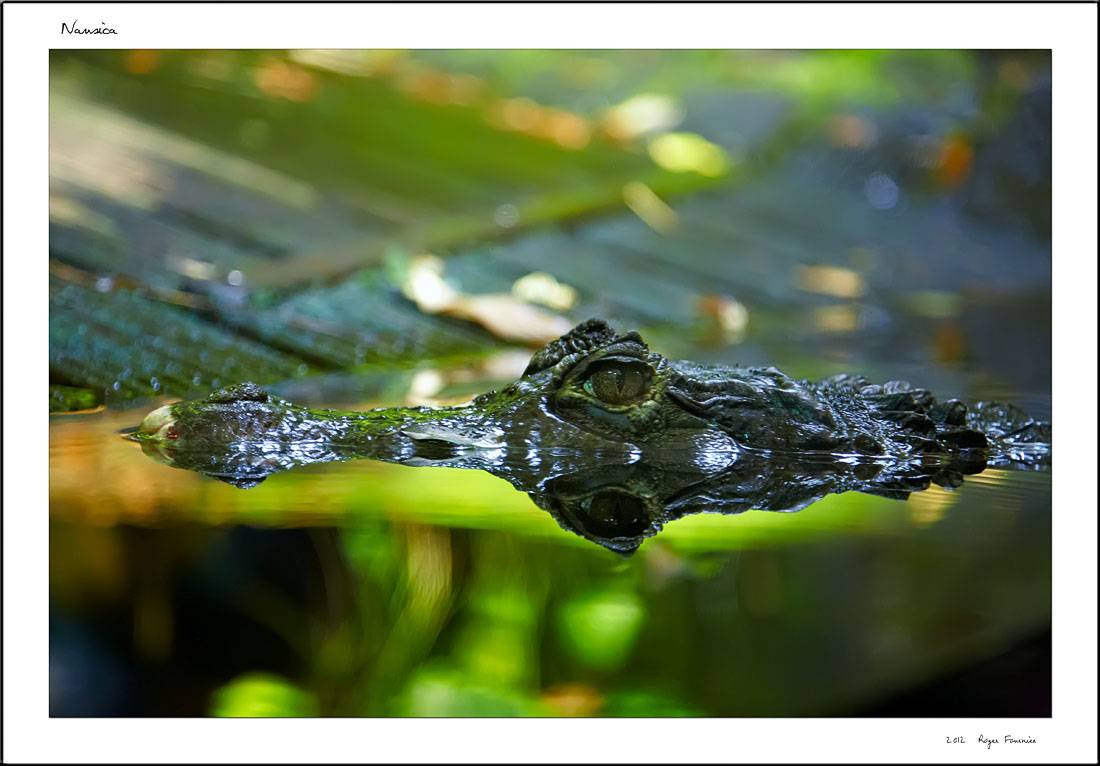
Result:
M493 470L505 459L579 453L713 471L746 452L980 451L985 434L997 433L992 425L1018 436L1031 428L1030 440L1048 437L1048 424L1028 425L1015 408L1009 414L937 403L900 382L838 375L811 384L774 368L671 361L637 332L590 319L538 351L513 384L464 406L310 409L242 383L161 407L131 438L152 457L241 486L294 466L351 458Z

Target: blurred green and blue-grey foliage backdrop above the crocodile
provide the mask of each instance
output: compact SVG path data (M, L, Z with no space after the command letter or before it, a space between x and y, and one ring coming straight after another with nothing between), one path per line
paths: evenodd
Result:
M915 350L893 337L927 318L909 316L909 291L956 297L936 317L952 348L931 351L965 361L964 289L1049 280L1048 245L1016 220L1048 230L1038 54L58 51L51 64L51 374L97 404L195 395L230 362L235 377L286 374L243 353L252 340L296 370L374 375L538 344L593 315L686 339L696 348L676 355L695 359L740 346L740 361L785 363L791 341L821 358L861 335ZM706 188L724 190L688 194ZM406 284L425 251L446 255L450 297L435 305ZM840 271L860 289L804 278ZM534 274L572 297L528 289ZM132 292L242 353L215 369L178 332L150 342L179 315ZM124 326L99 316L123 306Z

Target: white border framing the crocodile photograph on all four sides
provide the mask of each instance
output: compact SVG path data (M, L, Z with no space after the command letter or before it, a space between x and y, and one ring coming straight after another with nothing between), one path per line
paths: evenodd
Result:
M73 20L118 34L63 36L62 23ZM1094 4L8 3L3 21L7 760L1096 763ZM1053 420L1062 429L1053 477L1053 719L50 719L47 436L33 403L47 383L47 70L55 47L1050 48ZM1075 404L1082 400L1085 413ZM993 753L945 744L948 735L969 742L982 732L1036 744Z

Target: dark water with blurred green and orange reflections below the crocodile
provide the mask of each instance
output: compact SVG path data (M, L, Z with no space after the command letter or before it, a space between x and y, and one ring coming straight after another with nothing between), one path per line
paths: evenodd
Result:
M141 412L51 426L54 714L873 714L1049 623L1049 471L691 516L624 560L481 471L238 490L123 440Z

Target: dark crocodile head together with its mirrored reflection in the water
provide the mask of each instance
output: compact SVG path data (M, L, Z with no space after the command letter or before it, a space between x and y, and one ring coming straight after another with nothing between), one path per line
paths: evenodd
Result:
M904 494L914 488L890 484L904 471L927 485L946 464L1049 459L1049 424L1011 405L941 403L906 383L851 375L810 383L774 368L671 361L595 319L537 352L515 383L465 406L309 409L243 383L161 407L130 438L158 460L242 488L351 458L480 468L619 550L684 513L795 510L849 489ZM912 473L916 463L939 469ZM710 506L686 510L689 497Z

